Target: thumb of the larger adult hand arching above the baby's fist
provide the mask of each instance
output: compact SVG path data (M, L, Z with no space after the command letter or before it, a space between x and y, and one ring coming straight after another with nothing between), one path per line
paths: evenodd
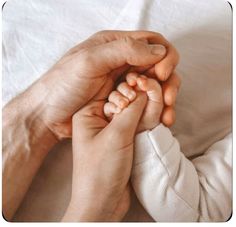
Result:
M125 64L133 66L152 65L160 62L166 55L166 48L160 44L148 44L131 37L124 37L108 43L87 48L82 51L80 63L86 71L101 74L109 73Z

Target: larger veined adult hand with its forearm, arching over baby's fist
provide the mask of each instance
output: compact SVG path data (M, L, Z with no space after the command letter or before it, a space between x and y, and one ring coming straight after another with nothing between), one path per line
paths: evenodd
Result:
M38 81L8 103L3 109L5 218L12 219L51 147L71 137L73 114L104 85L113 85L125 71L154 69L156 76L169 77L163 84L166 86L164 100L170 97L171 101L165 103L163 116L167 116L166 123L173 123L179 79L170 76L169 69L177 63L176 50L158 33L99 32L72 48ZM111 87L107 86L110 91Z

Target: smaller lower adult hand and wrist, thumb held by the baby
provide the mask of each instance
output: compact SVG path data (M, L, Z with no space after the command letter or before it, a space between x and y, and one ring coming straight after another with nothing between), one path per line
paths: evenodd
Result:
M145 93L109 124L103 106L111 83L73 116L73 182L63 221L120 221L129 208L134 134ZM108 89L109 88L109 89Z

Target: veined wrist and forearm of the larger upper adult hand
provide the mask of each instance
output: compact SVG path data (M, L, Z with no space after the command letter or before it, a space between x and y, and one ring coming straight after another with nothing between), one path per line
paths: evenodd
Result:
M57 142L41 119L34 86L3 108L3 213L11 220L47 153Z

